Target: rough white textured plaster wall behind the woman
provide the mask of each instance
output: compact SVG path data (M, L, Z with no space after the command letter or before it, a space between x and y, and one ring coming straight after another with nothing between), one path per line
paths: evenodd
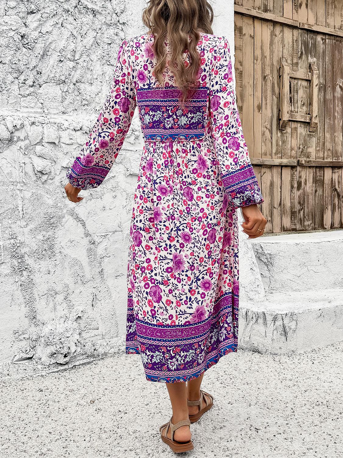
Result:
M230 39L233 54L233 1L213 4L215 32ZM2 361L96 357L113 353L125 333L138 118L102 186L78 205L63 186L107 95L119 44L145 30L144 5L0 1ZM242 250L252 261L251 248ZM256 273L249 265L245 278ZM260 279L253 288L261 289Z

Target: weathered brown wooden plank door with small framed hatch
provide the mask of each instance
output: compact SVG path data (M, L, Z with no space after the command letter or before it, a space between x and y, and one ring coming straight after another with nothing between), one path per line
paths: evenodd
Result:
M343 0L235 0L235 72L266 232L343 228Z

